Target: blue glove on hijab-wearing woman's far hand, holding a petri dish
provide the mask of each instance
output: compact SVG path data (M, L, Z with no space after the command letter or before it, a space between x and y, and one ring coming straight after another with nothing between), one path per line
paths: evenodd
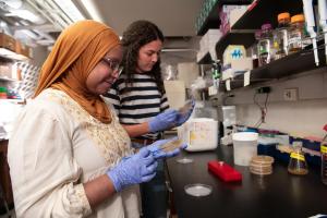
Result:
M181 144L181 146L179 148L175 148L174 150L171 150L168 153L164 152L161 149L161 146L168 142L175 141L175 140L177 140L177 137L170 138L170 140L159 140L159 141L156 141L155 143L148 145L147 148L153 153L155 159L164 159L164 158L168 158L168 157L174 157L180 154L181 149L186 148L187 145L183 143L183 144Z

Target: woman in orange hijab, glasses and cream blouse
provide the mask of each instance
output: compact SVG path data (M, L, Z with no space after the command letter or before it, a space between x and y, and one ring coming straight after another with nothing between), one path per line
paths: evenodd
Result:
M133 153L100 96L121 59L119 37L98 22L77 22L59 36L9 142L16 217L140 217L135 184L179 149L164 153L167 141L158 141Z

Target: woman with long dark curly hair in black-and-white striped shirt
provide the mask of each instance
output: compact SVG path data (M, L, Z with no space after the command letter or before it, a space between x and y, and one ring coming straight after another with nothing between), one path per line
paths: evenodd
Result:
M124 68L105 97L113 105L120 123L140 148L160 138L160 131L184 123L183 116L169 105L161 80L160 51L164 35L154 23L133 22L122 36ZM141 186L144 217L166 217L167 192L164 162L154 180Z

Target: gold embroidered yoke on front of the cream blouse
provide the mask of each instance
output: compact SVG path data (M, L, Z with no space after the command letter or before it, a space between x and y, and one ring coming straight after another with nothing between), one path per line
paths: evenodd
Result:
M49 88L43 96L46 99L51 99L62 105L72 114L81 128L95 142L110 168L120 161L122 157L133 153L131 140L113 112L111 112L112 122L105 124L92 117L76 101L61 90Z

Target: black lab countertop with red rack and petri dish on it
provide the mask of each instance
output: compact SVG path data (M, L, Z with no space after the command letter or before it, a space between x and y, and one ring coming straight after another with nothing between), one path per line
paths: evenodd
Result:
M327 214L327 185L320 181L319 169L310 168L306 175L292 175L287 165L275 162L270 175L255 175L247 167L234 166L232 147L214 152L186 153L167 160L170 185L179 218L238 217L310 217ZM182 157L192 164L179 164ZM242 173L242 182L227 183L207 170L209 160L223 160ZM203 183L213 186L204 197L190 196L184 186Z

